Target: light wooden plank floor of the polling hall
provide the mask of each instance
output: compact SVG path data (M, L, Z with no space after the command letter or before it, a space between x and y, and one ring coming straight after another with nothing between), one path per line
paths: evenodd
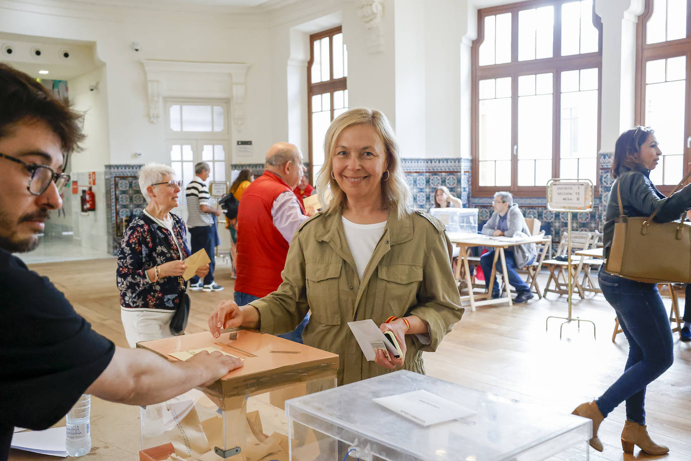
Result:
M118 346L127 346L115 287L115 259L37 264L31 269L48 276L95 330ZM191 292L188 332L205 330L209 312L222 299L231 299L229 274L227 265L217 266L216 281L225 285L222 292ZM574 297L574 317L594 321L597 339L591 324L581 323L579 330L576 322L563 327L560 339L560 320L549 321L545 331L545 319L567 314L566 297L549 294L548 298L511 308L481 307L477 312L468 308L439 350L425 355L428 375L564 413L598 397L621 374L628 352L623 335L612 343L614 311L601 295L583 301ZM649 456L636 448L634 455L623 454L619 440L625 421L622 404L600 426L605 451L591 450L592 460L691 460L691 343L674 335L674 365L647 388L646 398L649 432L656 442L670 446L670 453ZM10 459L47 459L12 452Z

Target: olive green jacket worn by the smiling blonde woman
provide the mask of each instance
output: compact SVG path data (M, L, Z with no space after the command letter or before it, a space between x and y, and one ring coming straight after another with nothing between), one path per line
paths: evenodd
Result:
M424 373L422 351L435 351L464 312L451 272L451 242L444 225L423 212L402 219L390 213L362 280L341 214L318 213L296 232L281 276L278 290L250 303L259 311L261 331L291 331L311 309L303 341L341 357L339 386L389 372L367 361L349 321L372 319L379 326L391 315L422 319L429 335L421 336L429 343L406 335L404 368Z

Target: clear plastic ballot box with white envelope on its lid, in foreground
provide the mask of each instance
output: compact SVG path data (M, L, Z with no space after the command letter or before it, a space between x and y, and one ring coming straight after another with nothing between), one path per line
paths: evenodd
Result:
M423 426L374 399L426 391L435 417L454 404L471 414ZM417 417L410 395L401 411ZM422 405L426 405L423 402ZM292 460L587 460L591 420L407 370L285 402Z

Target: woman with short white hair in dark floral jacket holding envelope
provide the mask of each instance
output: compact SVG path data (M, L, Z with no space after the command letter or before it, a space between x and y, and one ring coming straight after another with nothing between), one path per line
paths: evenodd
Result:
M187 325L189 297L182 274L190 255L187 227L171 213L178 206L182 181L164 164L146 164L139 173L146 208L122 236L117 256L120 317L131 347L139 341L180 335ZM203 277L209 266L196 274Z

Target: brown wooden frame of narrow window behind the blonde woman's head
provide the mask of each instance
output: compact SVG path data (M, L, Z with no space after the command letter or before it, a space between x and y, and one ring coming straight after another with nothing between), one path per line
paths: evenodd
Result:
M314 168L312 167L312 96L329 93L331 120L334 120L334 92L348 89L348 77L334 79L334 41L329 39L329 79L312 83L312 64L314 64L314 42L326 37L333 37L343 33L342 26L322 30L310 35L310 60L307 62L307 168L310 184L314 184ZM326 158L324 158L326 160Z

